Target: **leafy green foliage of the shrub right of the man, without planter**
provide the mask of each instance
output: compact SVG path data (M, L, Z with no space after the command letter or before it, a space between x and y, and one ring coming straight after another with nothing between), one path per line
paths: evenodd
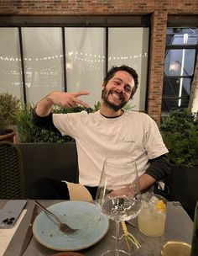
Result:
M190 109L172 110L162 120L160 131L171 163L198 166L198 113L191 113Z

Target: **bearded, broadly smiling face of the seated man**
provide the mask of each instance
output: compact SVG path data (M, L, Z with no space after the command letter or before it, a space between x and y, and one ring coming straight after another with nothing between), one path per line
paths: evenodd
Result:
M128 72L116 72L106 85L102 85L104 103L114 111L122 109L131 99L134 85L134 79Z

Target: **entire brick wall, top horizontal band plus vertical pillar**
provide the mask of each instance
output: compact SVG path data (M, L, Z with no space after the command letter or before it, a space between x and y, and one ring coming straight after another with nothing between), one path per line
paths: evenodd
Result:
M0 15L151 14L148 115L160 122L164 49L169 14L198 14L198 0L4 0Z

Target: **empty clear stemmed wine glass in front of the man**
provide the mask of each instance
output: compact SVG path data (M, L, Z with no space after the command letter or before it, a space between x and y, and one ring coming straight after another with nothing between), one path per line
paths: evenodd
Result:
M109 157L104 161L96 205L107 218L116 221L116 248L102 256L126 256L118 248L119 223L138 216L141 195L136 163L129 157Z

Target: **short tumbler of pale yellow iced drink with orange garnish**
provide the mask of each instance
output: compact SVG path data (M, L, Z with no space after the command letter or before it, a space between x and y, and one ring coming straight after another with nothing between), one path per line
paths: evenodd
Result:
M142 195L142 209L138 214L138 229L149 237L164 234L167 201L160 195L145 193Z

